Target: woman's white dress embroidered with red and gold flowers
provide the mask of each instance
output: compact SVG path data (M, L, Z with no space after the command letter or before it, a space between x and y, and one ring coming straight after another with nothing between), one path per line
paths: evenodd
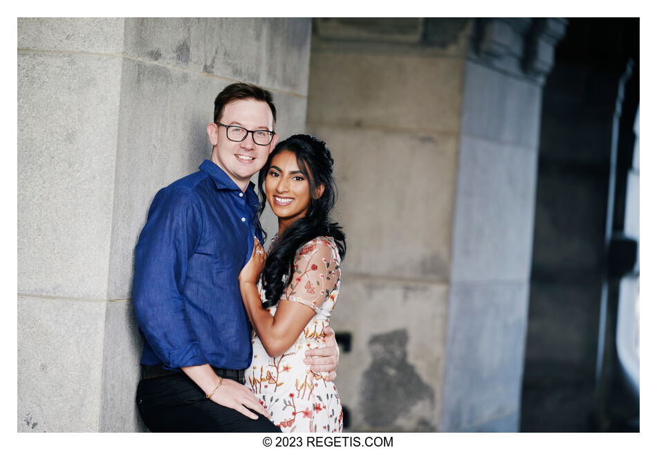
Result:
M313 308L315 316L299 339L278 357L270 357L253 332L253 359L246 369L246 386L269 411L282 431L340 432L342 402L326 372L312 372L304 364L309 348L321 348L322 330L340 291L340 255L332 237L316 237L297 251L294 279L281 298ZM261 299L265 296L261 289ZM268 308L272 316L276 307Z

